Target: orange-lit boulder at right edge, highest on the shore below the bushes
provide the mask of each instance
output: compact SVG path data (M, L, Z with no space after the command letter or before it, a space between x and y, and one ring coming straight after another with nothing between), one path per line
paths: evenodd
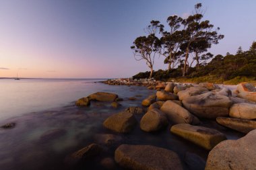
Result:
M256 88L251 83L240 83L237 86L238 97L256 102Z

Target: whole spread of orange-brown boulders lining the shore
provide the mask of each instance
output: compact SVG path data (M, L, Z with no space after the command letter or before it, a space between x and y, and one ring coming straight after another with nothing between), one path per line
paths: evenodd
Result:
M182 85L131 79L110 80L105 83L145 85L148 89L157 89L156 95L143 99L141 107L127 108L104 120L103 126L108 130L125 134L132 132L139 124L140 129L145 132L157 132L170 125L170 133L210 151L206 165L201 164L201 167L255 169L256 89L253 85L241 83L235 91L230 91L213 83ZM117 98L118 96L112 93L94 93L79 99L77 105L88 105L91 100L115 101ZM143 116L138 121L135 114ZM205 119L215 120L226 128L247 135L238 140L227 140L222 132L204 127L201 121ZM80 157L80 153L84 151L89 152L88 148L85 148L74 155ZM189 153L186 159L193 162ZM197 159L202 161L200 157ZM122 144L122 140L119 140L119 146L115 150L113 163L125 169L183 169L181 159L174 151L150 145Z

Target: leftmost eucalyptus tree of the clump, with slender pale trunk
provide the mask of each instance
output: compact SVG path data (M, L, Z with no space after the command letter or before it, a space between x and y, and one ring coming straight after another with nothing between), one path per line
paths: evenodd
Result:
M160 48L160 40L156 37L156 33L161 28L160 22L152 20L150 25L145 29L148 36L139 36L134 40L133 46L131 46L135 60L146 61L146 65L150 68L150 78L153 75L154 58Z

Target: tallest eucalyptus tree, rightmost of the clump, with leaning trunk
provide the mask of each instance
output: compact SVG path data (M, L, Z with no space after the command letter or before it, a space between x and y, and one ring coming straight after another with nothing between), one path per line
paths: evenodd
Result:
M210 24L209 20L202 21L203 11L201 9L201 6L201 3L197 3L195 5L194 14L187 17L187 19L183 19L183 38L185 38L183 42L183 51L185 52L183 77L185 76L188 69L187 62L189 58L189 53L191 52L191 46L193 46L193 44L197 44L203 40L207 42L207 45L203 46L205 46L205 48L209 48L210 44L218 44L218 40L224 38L223 35L218 34L218 30L220 30L220 28L212 31L214 25Z

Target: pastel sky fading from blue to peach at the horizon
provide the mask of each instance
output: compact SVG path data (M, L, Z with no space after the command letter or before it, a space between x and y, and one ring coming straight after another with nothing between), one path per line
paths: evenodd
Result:
M0 77L120 78L148 71L130 49L152 19L186 17L196 3L225 38L209 52L234 54L256 40L256 1L0 0ZM154 70L166 69L156 57Z

